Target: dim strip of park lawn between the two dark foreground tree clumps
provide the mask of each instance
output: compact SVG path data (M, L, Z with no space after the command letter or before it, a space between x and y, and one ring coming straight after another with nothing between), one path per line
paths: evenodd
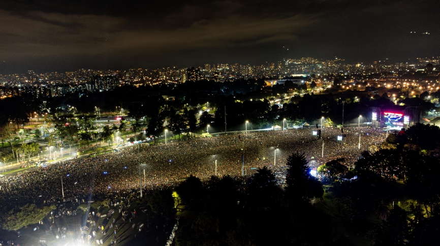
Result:
M335 198L333 192L324 193L324 201L318 201L316 203L316 208L329 216L335 227L335 232L340 234L341 237L344 237L343 241L347 242L346 245L373 245L372 241L365 235L374 224L379 223L379 219L376 219L374 215L368 215L362 220L362 222L352 223L346 221L338 215L335 206L331 202L333 198Z

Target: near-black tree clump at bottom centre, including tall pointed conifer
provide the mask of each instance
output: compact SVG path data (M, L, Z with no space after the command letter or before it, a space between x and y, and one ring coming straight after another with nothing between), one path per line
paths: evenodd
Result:
M310 203L323 194L309 176L304 155L294 153L288 188L263 167L248 178L190 177L175 190L193 219L181 218L176 245L334 245L332 223ZM310 187L307 187L310 186ZM319 224L326 230L316 233Z

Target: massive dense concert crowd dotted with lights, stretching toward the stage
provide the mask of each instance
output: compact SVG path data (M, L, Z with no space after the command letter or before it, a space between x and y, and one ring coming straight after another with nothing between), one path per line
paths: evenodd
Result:
M215 173L215 160L217 175L237 176L241 175L242 156L247 174L263 166L277 171L285 165L288 156L297 151L305 153L308 160L313 156L319 165L344 158L344 164L350 166L362 151L379 145L386 135L379 129L353 127L345 129L346 137L338 141L337 136L342 135L340 129L324 128L320 139L312 135L313 130L316 129L248 132L168 142L167 145L132 146L97 157L49 164L0 178L0 203L53 201L61 197L61 179L66 198L139 189L140 176L144 189L175 185L190 175L208 179Z

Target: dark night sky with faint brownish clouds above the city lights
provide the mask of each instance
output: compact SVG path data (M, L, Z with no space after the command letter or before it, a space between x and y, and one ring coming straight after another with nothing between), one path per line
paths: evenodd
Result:
M439 55L438 0L0 1L1 74Z

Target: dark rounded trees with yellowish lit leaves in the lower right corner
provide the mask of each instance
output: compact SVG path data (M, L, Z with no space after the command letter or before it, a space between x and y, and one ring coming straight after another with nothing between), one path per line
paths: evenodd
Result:
M359 211L381 222L368 233L374 245L434 245L440 240L440 158L437 126L417 124L390 134L382 149L355 163L359 181L340 190ZM354 192L356 191L356 192Z

